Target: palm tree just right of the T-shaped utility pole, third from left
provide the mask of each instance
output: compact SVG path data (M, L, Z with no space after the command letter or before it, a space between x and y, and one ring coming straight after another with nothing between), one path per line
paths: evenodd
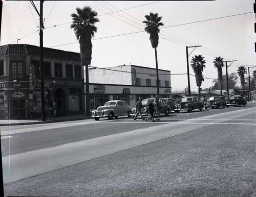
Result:
M198 94L199 94L199 99L201 98L201 85L202 82L204 81L203 78L203 70L205 68L205 60L202 55L192 57L191 67L193 68L195 74L196 74L196 83L198 86Z

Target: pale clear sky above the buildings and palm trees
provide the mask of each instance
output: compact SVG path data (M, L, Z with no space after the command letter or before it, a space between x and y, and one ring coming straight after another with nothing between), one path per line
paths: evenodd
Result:
M33 2L39 11L39 1ZM188 86L186 46L201 45L188 48L188 61L189 73L194 75L191 58L204 57L204 89L214 85L213 79L218 78L212 63L216 57L237 60L227 62L231 63L228 73L237 72L239 66L256 66L253 3L254 0L45 1L44 47L79 53L79 43L70 29L70 15L76 8L90 6L100 20L95 24L98 31L92 39L91 66L132 64L156 68L154 48L142 21L150 12L158 13L164 23L157 47L158 68L170 71L173 91L184 90ZM0 45L39 46L38 25L39 16L30 1L3 1ZM250 68L250 73L255 69ZM198 90L194 76L190 76L190 88Z

